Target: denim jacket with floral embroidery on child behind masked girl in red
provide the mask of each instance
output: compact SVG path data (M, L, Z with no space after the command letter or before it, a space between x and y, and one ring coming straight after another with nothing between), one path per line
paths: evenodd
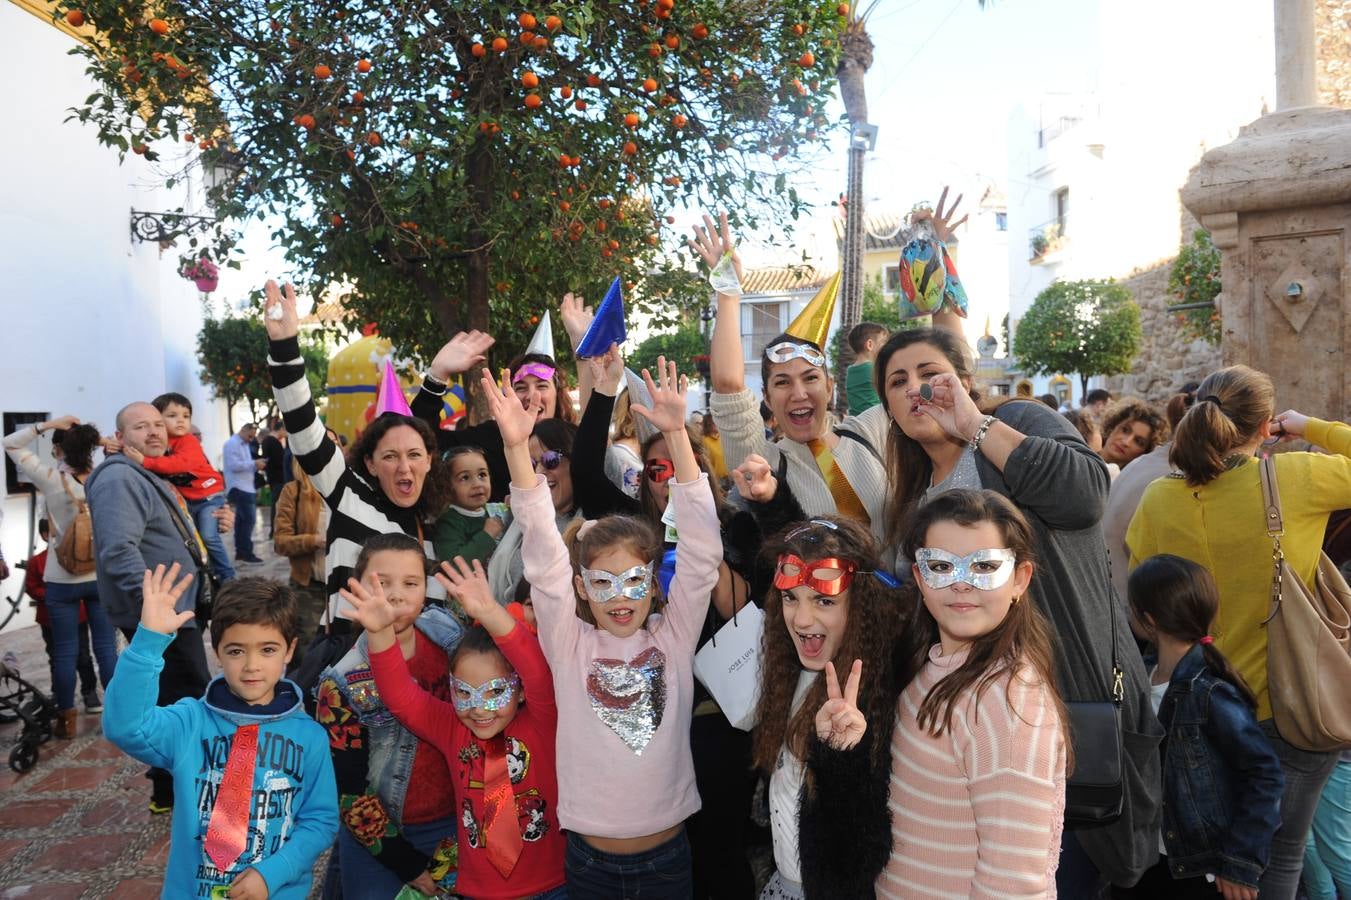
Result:
M431 638L447 655L454 653L463 634L455 616L440 607L423 609L413 627ZM370 672L365 631L347 655L319 677L320 682L327 678L338 685L346 705L366 727L370 741L370 757L366 764L367 789L380 797L392 820L403 822L404 796L413 769L417 736L400 724L380 699L376 676Z

